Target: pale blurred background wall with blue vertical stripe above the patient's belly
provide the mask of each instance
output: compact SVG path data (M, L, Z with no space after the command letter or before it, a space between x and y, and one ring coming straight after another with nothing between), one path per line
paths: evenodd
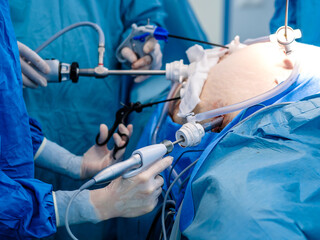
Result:
M274 12L270 0L189 0L210 41L229 43L268 35Z

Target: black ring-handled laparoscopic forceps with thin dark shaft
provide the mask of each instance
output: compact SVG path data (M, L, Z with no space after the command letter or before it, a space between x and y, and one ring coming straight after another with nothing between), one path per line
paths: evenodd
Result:
M109 132L108 132L108 137L105 141L103 141L102 143L99 142L99 137L100 137L100 133L97 134L96 137L96 144L98 146L103 146L106 145L109 140L111 139L111 136L115 133L115 131L117 130L118 126L120 123L125 124L128 116L130 113L132 112L137 112L140 113L142 112L143 108L146 107L151 107L153 105L156 104L160 104L160 103L164 103L164 102L169 102L169 101L176 101L179 100L180 97L175 97L175 98L171 98L171 99L166 99L166 100L162 100L162 101L158 101L158 102L152 102L152 103L146 103L146 104L141 104L140 102L136 102L136 103L129 103L128 105L124 105L122 108L120 108L117 112L116 112L116 119L112 125L112 127L110 128ZM120 137L124 137L125 138L125 144L121 147L117 146L115 144L114 146L114 150L113 150L113 158L115 159L115 155L116 153L125 148L128 143L129 143L129 136L124 134L124 133L120 133L120 131L118 130L117 133L120 135Z

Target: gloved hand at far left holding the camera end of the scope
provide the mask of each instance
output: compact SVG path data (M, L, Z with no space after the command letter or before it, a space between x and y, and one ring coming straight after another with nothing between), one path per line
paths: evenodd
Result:
M49 65L36 52L23 43L18 42L18 48L23 86L37 88L40 85L41 87L46 87L47 79L38 72L48 74L50 72Z

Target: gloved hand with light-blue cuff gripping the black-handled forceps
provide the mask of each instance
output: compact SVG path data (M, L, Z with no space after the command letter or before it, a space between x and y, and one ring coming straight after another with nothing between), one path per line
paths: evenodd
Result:
M132 125L126 128L123 124L119 125L119 132L128 137L132 134ZM100 141L104 141L108 136L108 127L104 124L100 126ZM125 141L121 139L118 133L113 135L114 142L121 147ZM116 154L116 161L119 160L124 149ZM59 146L58 144L43 139L43 142L36 153L35 164L50 171L69 176L74 179L84 179L95 175L97 172L108 166L113 160L113 150L107 146L91 147L83 156L76 156Z

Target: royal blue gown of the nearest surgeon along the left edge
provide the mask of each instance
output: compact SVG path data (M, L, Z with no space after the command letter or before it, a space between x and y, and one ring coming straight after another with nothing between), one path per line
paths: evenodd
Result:
M56 231L52 186L34 179L29 116L7 0L0 1L0 31L0 238L46 237Z

